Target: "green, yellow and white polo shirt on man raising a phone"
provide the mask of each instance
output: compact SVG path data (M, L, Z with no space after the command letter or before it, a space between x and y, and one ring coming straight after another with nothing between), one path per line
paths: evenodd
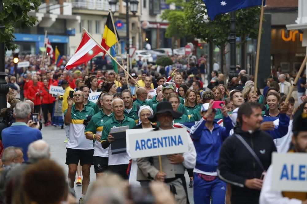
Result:
M67 109L64 111L64 117ZM66 148L90 150L94 149L93 140L86 139L84 135L85 125L83 121L88 116L95 115L94 109L84 106L82 111L75 108L75 104L72 105L71 121L69 123L68 142Z

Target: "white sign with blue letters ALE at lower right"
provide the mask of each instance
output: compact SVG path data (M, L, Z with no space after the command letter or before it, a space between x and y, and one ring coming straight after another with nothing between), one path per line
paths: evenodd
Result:
M307 154L272 153L272 189L307 192Z

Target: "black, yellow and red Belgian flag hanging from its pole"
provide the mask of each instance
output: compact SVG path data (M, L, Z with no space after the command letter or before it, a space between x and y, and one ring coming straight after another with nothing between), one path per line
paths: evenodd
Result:
M116 31L116 28L115 28L115 31ZM116 31L116 35L117 35L117 39L120 40L117 31ZM111 14L109 13L108 18L107 18L106 25L105 25L105 27L104 27L101 45L102 45L106 50L109 50L109 48L110 48L111 46L113 46L116 42L117 42L117 41L116 41L116 37L115 37L115 32L114 32L112 20L111 20ZM104 58L104 55L105 55L105 54L106 54L106 53L103 51L103 58Z

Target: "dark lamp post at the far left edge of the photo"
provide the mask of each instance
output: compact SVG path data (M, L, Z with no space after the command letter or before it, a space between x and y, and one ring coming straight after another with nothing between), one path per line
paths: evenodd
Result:
M3 3L0 0L0 13L3 12ZM0 25L0 29L4 29L4 25ZM6 83L5 77L5 49L4 43L0 42L0 109L6 108L6 95L9 92L9 85Z

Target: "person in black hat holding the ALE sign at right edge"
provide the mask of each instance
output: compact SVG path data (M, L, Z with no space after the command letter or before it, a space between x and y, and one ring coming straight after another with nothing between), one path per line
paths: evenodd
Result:
M292 145L289 153L306 153L307 152L307 114L303 112L304 103L301 108L294 114L293 128L292 128ZM302 168L303 169L303 168ZM276 191L272 189L272 175L273 169L270 165L264 177L262 189L260 193L259 203L290 203L290 204L307 204L306 192L285 192ZM301 177L300 169L300 177Z

